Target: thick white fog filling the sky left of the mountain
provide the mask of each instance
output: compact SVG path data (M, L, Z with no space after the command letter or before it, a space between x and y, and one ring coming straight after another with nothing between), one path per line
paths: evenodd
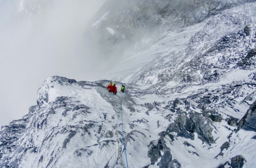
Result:
M94 81L104 72L84 36L104 0L55 0L40 7L36 2L0 0L0 126L36 105L47 77Z

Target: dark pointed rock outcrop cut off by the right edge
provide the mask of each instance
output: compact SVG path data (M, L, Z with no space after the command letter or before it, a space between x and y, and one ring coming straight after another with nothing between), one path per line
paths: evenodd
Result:
M256 132L256 101L250 105L244 117L237 124L238 129L243 128L244 130Z

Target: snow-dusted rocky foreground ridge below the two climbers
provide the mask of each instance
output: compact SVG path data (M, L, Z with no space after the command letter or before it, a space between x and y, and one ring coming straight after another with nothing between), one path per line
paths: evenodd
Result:
M248 147L255 151L256 132L236 131L256 98L255 84L202 86L169 97L138 85L113 95L109 82L48 78L38 92L43 103L2 128L0 166L122 167L121 113L129 167L217 168L239 155L255 166Z

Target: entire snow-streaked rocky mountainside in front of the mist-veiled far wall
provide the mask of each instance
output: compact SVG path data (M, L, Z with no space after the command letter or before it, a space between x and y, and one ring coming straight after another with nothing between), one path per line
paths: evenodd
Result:
M108 80L49 77L37 105L1 128L0 167L255 168L255 9L227 8L130 53L109 76L117 95Z

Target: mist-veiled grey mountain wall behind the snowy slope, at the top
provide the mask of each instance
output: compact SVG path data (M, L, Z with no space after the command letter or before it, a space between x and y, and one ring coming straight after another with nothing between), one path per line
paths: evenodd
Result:
M109 56L106 51L119 54L123 50L148 48L167 31L200 23L247 2L255 0L108 0L92 19L89 30L92 42L100 44L102 54Z

